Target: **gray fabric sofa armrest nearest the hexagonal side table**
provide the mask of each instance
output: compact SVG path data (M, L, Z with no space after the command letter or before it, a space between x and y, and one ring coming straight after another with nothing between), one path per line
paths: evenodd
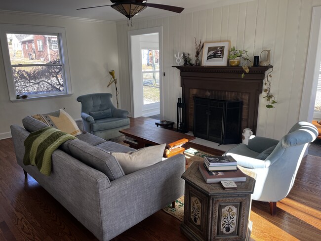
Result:
M184 195L184 171L185 157L176 155L112 181L100 197L104 240Z

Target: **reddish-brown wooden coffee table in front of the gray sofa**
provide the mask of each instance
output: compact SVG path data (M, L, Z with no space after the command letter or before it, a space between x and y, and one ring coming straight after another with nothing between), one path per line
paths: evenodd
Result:
M165 158L184 152L185 149L182 145L195 139L194 136L160 128L155 125L137 125L120 130L120 133L125 135L124 143L129 144L130 147L135 149L166 143Z

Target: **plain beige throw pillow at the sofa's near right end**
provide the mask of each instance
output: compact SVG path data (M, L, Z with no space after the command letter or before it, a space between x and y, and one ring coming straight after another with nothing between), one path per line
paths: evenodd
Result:
M112 155L120 163L121 168L127 175L160 162L162 160L165 146L166 144L144 147L127 153L113 152Z

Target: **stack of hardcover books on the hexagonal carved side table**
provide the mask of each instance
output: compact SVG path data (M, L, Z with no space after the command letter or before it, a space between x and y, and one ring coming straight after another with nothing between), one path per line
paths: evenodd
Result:
M204 163L199 164L199 170L206 183L246 181L246 175L237 167L237 161L231 156L205 156Z

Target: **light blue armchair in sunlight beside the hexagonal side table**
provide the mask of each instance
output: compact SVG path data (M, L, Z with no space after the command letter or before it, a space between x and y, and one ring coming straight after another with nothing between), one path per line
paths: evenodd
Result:
M240 144L223 155L231 155L256 174L252 199L270 202L271 215L276 216L277 201L290 192L308 144L317 136L313 124L299 121L280 141L251 136L248 145Z

